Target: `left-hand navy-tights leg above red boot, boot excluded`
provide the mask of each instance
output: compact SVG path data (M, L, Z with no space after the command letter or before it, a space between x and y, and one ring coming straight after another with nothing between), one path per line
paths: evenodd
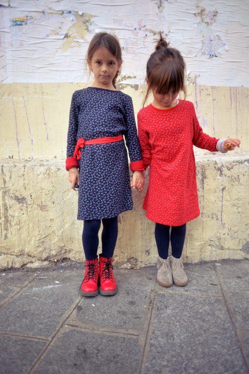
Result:
M101 220L86 220L82 233L82 243L85 257L88 260L94 260L97 257L99 246L99 230Z

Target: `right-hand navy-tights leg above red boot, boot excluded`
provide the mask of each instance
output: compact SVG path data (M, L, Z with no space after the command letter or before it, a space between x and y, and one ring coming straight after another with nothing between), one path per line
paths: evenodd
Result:
M118 238L118 217L102 219L102 255L106 258L113 257Z

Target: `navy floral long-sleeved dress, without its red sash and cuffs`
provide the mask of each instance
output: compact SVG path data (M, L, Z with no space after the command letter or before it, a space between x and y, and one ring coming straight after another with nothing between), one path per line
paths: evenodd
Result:
M77 140L124 135L130 162L141 153L131 97L121 91L88 87L72 97L67 158ZM124 140L85 145L79 162L78 219L111 218L132 209L128 158Z

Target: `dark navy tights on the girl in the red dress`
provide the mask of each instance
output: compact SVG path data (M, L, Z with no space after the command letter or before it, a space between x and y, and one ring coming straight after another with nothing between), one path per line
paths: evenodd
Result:
M170 236L169 229L170 226L161 225L160 223L156 223L155 225L155 240L158 255L164 260L167 259L170 240L172 256L179 259L182 255L185 240L186 223L182 226L171 226Z

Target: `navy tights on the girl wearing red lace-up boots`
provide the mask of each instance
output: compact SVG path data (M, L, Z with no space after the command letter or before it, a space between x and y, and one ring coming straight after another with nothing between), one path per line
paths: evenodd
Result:
M102 219L102 255L112 257L118 238L118 217ZM93 260L97 257L99 246L99 230L101 220L86 220L82 233L82 243L87 260Z

